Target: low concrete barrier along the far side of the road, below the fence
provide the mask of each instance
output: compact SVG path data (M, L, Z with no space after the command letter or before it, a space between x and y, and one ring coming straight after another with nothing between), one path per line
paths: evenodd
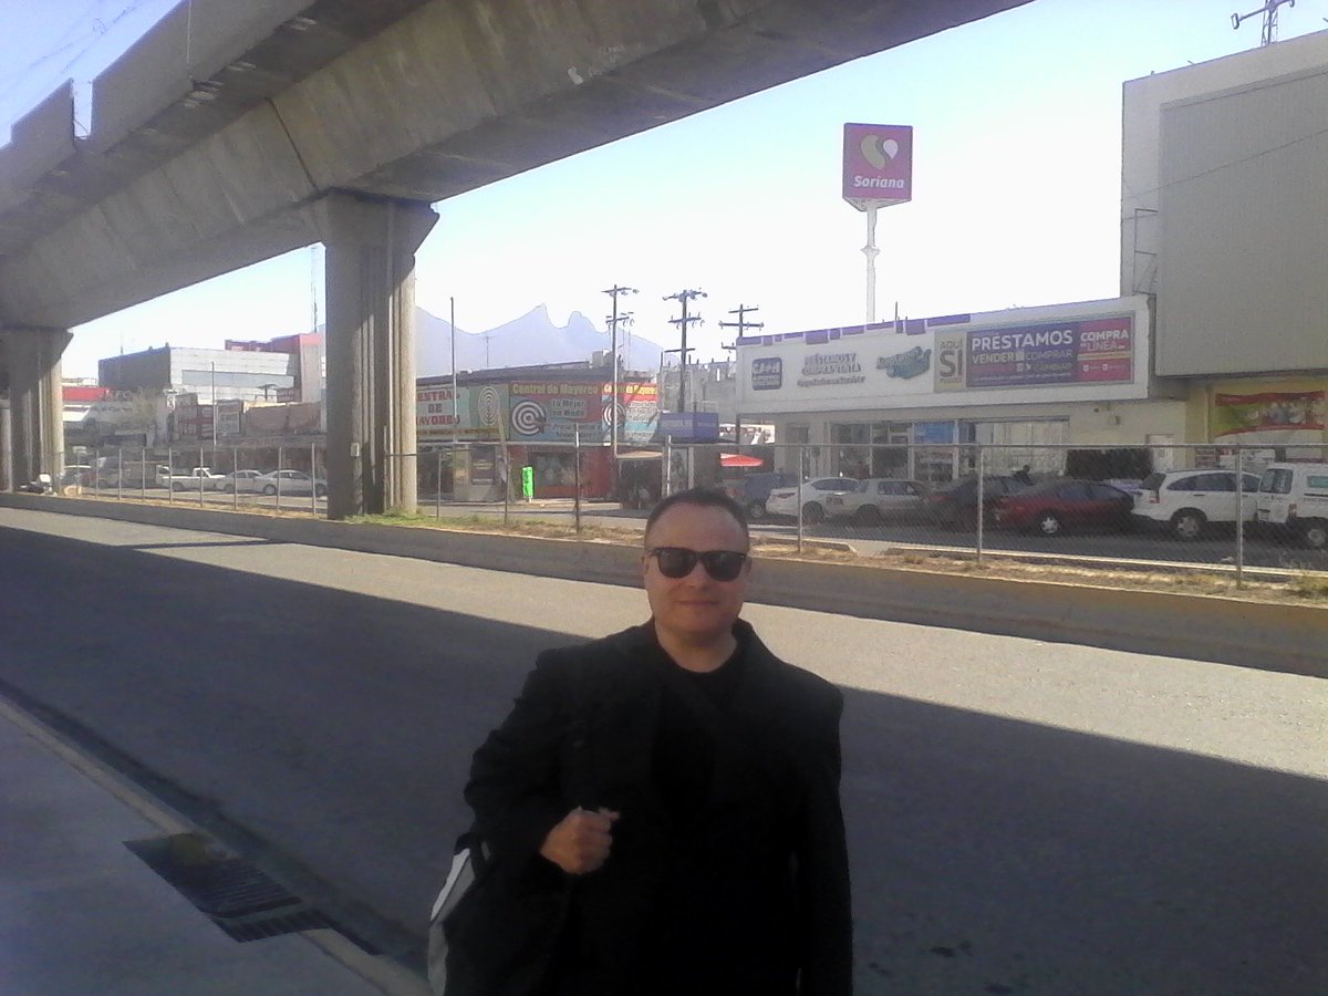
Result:
M603 584L640 583L640 550L46 495L0 506L259 537ZM750 600L1328 677L1328 607L766 558Z

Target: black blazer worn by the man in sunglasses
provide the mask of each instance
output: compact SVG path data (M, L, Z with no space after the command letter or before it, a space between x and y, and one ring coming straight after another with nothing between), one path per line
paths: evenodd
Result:
M558 992L853 989L843 696L776 657L746 623L734 635L742 673L729 708L705 717L716 754L699 813L669 811L652 785L672 677L649 667L663 653L649 623L540 653L474 756L466 801L495 866L526 888L571 888ZM538 851L578 805L622 818L606 865L572 878Z

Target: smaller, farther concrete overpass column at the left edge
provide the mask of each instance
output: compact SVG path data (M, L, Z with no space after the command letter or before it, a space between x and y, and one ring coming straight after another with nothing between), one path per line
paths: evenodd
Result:
M0 328L0 355L9 393L11 487L65 469L64 390L60 357L73 339L64 329Z

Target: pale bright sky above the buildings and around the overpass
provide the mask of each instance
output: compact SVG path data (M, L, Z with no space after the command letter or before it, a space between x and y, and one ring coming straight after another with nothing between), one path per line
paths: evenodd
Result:
M667 348L683 290L692 360L728 356L738 305L764 331L866 317L865 215L841 199L845 122L914 127L914 195L882 208L876 317L1120 293L1121 88L1255 48L1263 0L1035 0L438 202L417 303L478 333L544 304L604 328L615 284L632 333ZM0 0L4 127L92 80L173 0ZM1239 11L1238 11L1239 8ZM1328 0L1279 13L1279 39L1328 27ZM323 320L313 246L81 325L66 377L163 343L307 332ZM433 373L433 371L421 371Z

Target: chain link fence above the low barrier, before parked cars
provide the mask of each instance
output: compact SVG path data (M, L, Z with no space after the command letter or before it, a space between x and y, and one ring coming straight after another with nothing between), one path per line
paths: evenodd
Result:
M570 445L568 445L570 444ZM421 515L640 526L664 495L717 487L753 529L861 552L1328 571L1324 446L732 444L622 448L457 442L392 454ZM58 490L231 509L325 513L321 445L102 448Z

